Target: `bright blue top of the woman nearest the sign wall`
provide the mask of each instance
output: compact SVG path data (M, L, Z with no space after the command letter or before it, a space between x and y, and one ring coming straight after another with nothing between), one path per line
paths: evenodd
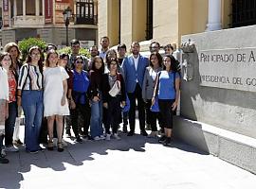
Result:
M159 72L158 99L175 99L176 92L174 86L174 77L179 78L176 72L167 72L165 70Z

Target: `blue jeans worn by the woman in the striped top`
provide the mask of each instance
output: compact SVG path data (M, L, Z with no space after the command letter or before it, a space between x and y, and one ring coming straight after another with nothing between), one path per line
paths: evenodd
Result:
M26 149L27 151L39 150L39 134L43 118L43 91L24 90L22 108L25 114Z

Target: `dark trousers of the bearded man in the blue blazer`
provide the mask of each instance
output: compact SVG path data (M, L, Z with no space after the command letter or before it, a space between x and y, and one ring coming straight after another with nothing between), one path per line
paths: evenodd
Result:
M137 83L136 90L134 93L128 93L130 100L130 111L129 111L129 124L130 129L135 131L135 121L136 121L136 99L137 99L137 111L138 111L138 120L139 120L139 129L145 129L145 108L144 101L142 98L142 90Z

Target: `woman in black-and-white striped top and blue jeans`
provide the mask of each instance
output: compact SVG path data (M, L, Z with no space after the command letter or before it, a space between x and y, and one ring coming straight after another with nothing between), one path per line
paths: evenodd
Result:
M29 49L26 63L21 67L17 103L25 114L25 144L30 153L37 153L43 118L43 54L38 46Z

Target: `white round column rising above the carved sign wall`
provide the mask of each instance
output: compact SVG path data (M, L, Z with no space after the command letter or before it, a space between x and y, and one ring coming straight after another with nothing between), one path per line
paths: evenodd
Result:
M209 0L207 31L221 29L221 0Z

